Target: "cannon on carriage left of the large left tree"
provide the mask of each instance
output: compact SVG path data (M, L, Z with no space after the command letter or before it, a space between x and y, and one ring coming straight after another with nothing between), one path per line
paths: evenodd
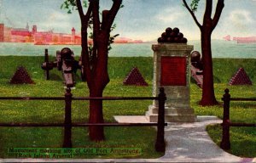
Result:
M45 70L46 80L49 80L49 70L53 70L53 68L61 70L66 87L74 87L73 74L78 69L81 70L81 65L79 65L79 61L74 59L74 53L70 48L62 48L61 51L56 51L55 61L49 61L48 49L45 49L44 63L41 67Z

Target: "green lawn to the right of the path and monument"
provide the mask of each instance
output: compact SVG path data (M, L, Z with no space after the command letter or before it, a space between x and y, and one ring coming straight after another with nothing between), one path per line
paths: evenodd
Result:
M217 115L223 118L223 102L221 98L224 89L230 89L230 95L234 98L256 98L256 59L213 59L215 95L221 105L213 107L201 107L201 93L198 87L191 87L191 105L196 115ZM236 70L243 67L250 76L253 86L228 86L231 76ZM230 121L256 124L255 102L230 102ZM219 125L207 126L207 132L212 140L218 144L221 142L222 127ZM256 127L230 127L230 154L241 157L256 157Z

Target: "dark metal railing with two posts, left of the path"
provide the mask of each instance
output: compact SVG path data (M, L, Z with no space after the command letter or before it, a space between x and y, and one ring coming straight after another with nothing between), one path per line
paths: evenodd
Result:
M73 126L157 126L157 137L155 141L155 150L165 152L165 103L166 93L163 87L160 88L158 97L103 97L103 98L85 98L73 97L71 89L67 88L64 97L0 97L0 100L65 100L65 118L64 123L0 123L0 126L64 126L64 140L62 147L72 147L72 127ZM73 100L158 100L159 115L158 122L154 123L73 123L72 122L72 102Z

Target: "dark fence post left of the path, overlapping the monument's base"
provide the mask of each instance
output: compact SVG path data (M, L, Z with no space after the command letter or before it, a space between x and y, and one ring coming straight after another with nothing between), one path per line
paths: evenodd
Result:
M160 87L160 94L158 95L159 110L158 110L158 124L157 124L157 138L155 142L155 150L157 152L166 151L165 143L165 103L166 93L164 87Z

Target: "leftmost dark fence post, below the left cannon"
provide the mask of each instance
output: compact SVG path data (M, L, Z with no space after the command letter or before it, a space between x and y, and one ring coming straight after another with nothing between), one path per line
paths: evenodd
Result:
M63 148L71 148L71 132L72 132L72 120L71 120L71 104L72 104L72 93L71 89L67 87L65 93L65 121L64 121L64 141Z

